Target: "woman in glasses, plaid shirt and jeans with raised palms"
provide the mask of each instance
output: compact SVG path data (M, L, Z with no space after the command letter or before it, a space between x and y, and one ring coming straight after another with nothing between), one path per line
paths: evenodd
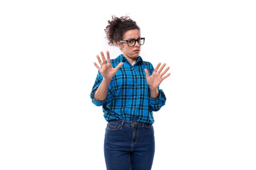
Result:
M153 112L166 101L160 83L170 76L169 67L158 63L154 69L140 53L145 38L130 17L112 16L105 29L108 44L121 54L110 59L97 55L98 75L90 97L102 106L107 123L104 155L107 170L151 170L155 137ZM165 69L164 69L165 68Z

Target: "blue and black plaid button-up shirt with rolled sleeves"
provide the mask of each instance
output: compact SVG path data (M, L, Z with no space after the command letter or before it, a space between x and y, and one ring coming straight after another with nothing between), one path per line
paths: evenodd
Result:
M123 66L112 78L104 101L94 99L94 94L103 79L98 71L90 94L92 102L97 106L102 105L104 118L107 121L116 119L154 123L152 112L158 111L165 104L166 97L159 87L159 96L157 98L150 97L144 68L147 68L151 75L154 71L153 65L143 61L140 56L134 66L122 54L116 59L111 59L113 68L120 62L123 62Z

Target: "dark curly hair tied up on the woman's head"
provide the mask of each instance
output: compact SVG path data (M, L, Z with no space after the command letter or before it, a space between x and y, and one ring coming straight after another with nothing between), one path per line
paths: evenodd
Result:
M112 20L108 20L108 25L104 29L106 38L110 46L117 46L117 42L122 40L126 31L138 29L137 23L128 16L116 17L112 16Z

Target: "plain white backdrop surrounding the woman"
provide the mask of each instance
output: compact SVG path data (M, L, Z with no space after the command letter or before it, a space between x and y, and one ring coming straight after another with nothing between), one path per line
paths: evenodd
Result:
M141 56L170 66L152 170L256 170L253 0L2 0L0 170L105 170L90 100L104 28L128 15Z

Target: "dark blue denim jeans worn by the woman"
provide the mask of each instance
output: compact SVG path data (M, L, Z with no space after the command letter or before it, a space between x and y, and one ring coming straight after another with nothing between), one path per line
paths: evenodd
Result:
M153 124L123 120L108 122L104 140L107 170L151 170L154 154Z

